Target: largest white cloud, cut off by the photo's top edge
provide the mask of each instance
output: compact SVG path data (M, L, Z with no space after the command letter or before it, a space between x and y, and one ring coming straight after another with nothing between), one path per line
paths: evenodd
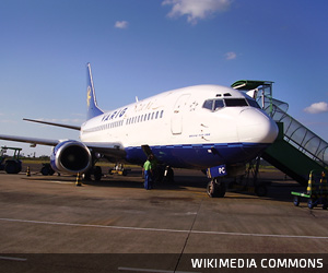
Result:
M187 15L188 23L197 24L215 12L226 11L233 0L164 0L163 5L173 5L169 17Z

